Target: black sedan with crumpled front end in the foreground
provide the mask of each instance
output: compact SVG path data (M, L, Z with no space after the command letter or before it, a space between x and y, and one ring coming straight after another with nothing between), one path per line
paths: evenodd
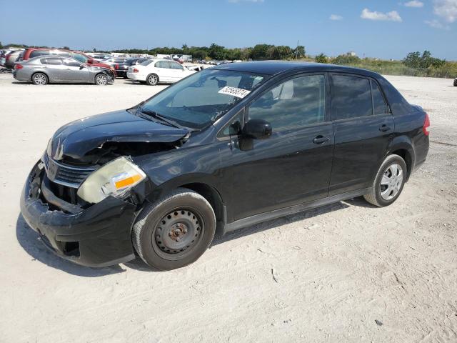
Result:
M428 126L370 71L216 66L58 129L26 180L21 213L78 264L138 255L175 269L216 232L358 196L393 203L426 159Z

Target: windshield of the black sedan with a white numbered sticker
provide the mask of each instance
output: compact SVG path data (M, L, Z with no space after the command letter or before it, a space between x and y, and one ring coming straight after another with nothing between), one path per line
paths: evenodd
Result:
M141 110L172 119L182 126L202 129L226 114L266 80L243 71L205 69L161 91Z

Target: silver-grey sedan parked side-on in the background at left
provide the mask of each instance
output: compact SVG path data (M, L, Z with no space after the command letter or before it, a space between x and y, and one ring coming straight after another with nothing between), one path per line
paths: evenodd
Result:
M105 85L114 82L114 75L108 69L89 66L64 56L37 56L18 62L13 76L18 81L39 85L53 82Z

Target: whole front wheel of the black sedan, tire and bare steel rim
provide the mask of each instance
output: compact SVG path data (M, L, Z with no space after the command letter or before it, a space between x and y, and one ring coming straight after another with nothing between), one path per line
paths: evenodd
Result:
M179 188L144 207L134 224L132 242L150 267L170 270L199 259L215 232L216 217L211 204L200 194Z

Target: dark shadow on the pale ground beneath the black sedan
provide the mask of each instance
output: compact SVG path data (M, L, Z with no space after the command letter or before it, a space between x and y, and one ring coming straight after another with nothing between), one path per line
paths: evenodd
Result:
M268 229L281 227L285 224L300 222L303 219L310 219L320 216L321 214L327 214L338 211L340 209L346 209L350 206L376 208L375 206L365 202L361 197L348 199L344 202L336 202L334 204L318 207L317 209L298 212L286 217L280 217L277 219L269 220L267 222L262 222L260 224L255 224L250 227L245 227L243 229L238 229L234 232L225 234L223 237L215 237L209 249L218 244L228 242L233 239L246 237L250 234L256 234ZM303 230L306 230L306 228L303 227ZM34 232L34 230L29 227L21 214L19 214L16 222L16 237L19 244L21 244L21 247L23 247L24 250L32 257L33 261L39 261L48 265L49 267L60 269L63 272L69 274L77 275L80 277L103 277L109 274L126 272L126 269L123 269L119 264L111 267L91 268L80 266L79 264L74 264L73 262L66 261L66 259L62 259L61 257L56 256L50 252L43 243L39 242L39 234ZM130 262L124 263L124 266L130 269L138 270L140 272L161 272L157 269L151 269L151 267L144 263L143 260L141 260L139 257Z

